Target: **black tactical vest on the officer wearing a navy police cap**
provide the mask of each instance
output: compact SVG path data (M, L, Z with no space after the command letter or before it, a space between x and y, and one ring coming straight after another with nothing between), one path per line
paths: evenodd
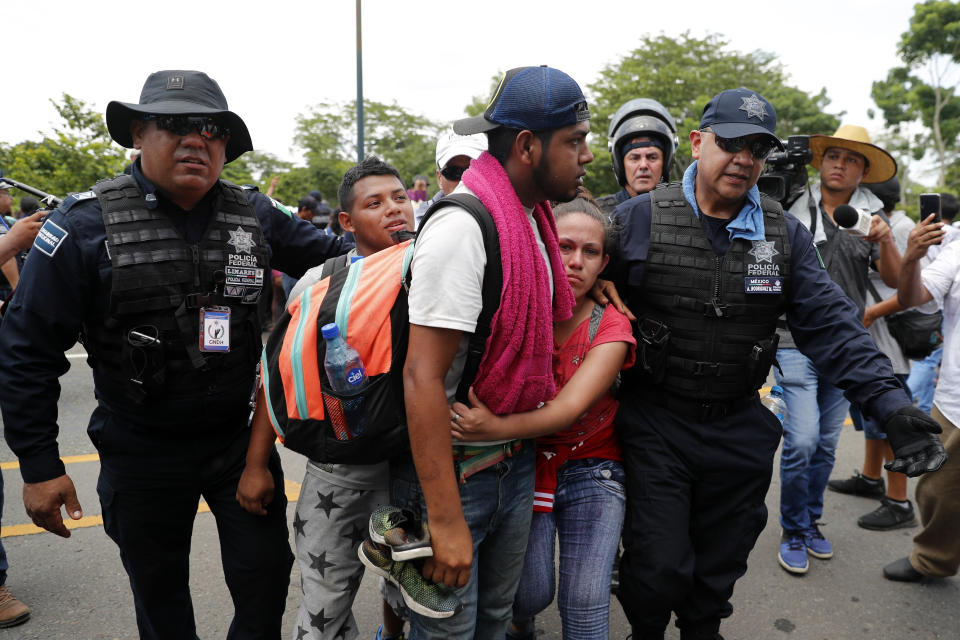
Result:
M762 200L766 239L736 239L718 256L679 183L650 192L640 364L647 384L686 398L743 398L776 358L776 322L790 279L780 205Z

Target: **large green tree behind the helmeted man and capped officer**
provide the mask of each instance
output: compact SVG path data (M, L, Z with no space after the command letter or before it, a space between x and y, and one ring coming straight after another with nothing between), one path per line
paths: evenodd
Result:
M598 196L620 189L607 151L607 128L617 108L634 98L653 98L676 119L680 147L671 171L675 180L692 160L688 133L699 126L707 101L724 89L748 87L773 103L781 138L832 133L842 114L825 112L830 103L826 90L811 95L788 82L774 54L732 50L717 34L643 36L636 49L604 67L599 79L588 86L595 159L587 167L586 187Z

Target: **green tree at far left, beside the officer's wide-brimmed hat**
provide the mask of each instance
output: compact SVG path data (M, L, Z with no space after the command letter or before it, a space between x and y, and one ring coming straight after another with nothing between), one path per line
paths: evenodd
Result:
M98 111L66 93L50 102L63 122L52 134L41 132L40 142L0 144L5 175L62 198L123 170L126 152L110 138Z

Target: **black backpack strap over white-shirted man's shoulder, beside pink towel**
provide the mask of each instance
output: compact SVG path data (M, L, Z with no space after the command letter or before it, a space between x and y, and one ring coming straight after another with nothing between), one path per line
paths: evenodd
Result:
M483 287L481 289L483 306L480 308L480 315L477 316L477 327L470 335L467 346L467 361L463 366L463 376L460 378L460 384L457 386L457 400L469 404L467 402L467 392L477 377L480 361L483 359L483 353L487 348L487 338L490 337L490 325L493 323L494 314L500 308L500 297L503 292L503 265L500 261L500 236L497 234L497 224L487 208L480 202L480 198L474 195L451 193L433 203L420 221L418 233L422 233L424 226L433 217L434 213L452 205L459 206L467 211L480 225L480 232L483 234L483 247L487 254L487 265L483 270Z

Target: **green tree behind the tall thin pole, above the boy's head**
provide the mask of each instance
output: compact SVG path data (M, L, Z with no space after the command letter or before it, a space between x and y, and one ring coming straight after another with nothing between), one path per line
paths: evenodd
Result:
M287 174L280 179L278 195L286 197L294 186L309 181L330 202L344 172L353 166L356 148L356 102L323 103L297 116L295 144L304 150L306 171ZM435 122L412 114L399 106L364 101L364 143L367 155L389 162L409 185L418 173L433 175L437 136ZM289 194L292 195L292 194Z

